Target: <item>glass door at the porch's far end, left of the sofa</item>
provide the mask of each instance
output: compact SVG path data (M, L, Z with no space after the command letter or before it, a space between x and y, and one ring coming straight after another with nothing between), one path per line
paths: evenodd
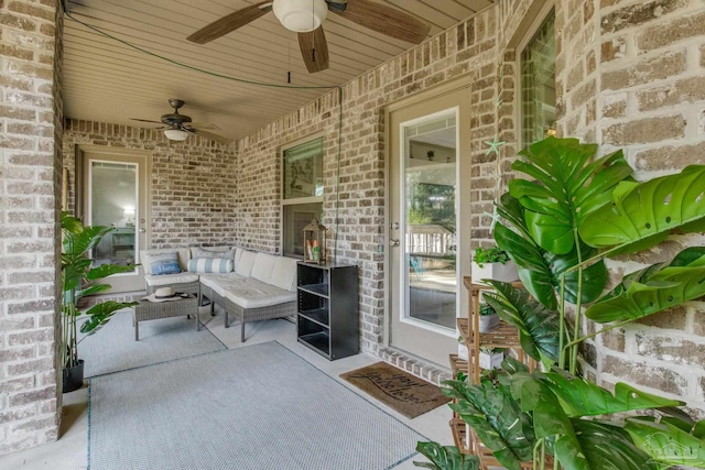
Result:
M148 243L145 203L148 156L84 150L83 216L89 226L111 227L93 250L93 265L138 264L139 251ZM143 270L115 274L106 282L112 293L144 288Z

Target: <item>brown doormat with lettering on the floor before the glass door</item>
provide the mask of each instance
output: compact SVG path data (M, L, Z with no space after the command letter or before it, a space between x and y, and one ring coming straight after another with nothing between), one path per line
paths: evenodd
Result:
M340 376L410 419L451 401L438 386L387 362L356 369Z

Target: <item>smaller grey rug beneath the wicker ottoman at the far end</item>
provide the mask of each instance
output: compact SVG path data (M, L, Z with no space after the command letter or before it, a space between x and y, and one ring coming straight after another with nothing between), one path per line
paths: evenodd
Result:
M196 331L196 320L183 317L140 321L134 340L132 310L119 311L95 335L78 345L86 378L155 364L225 349L208 329Z

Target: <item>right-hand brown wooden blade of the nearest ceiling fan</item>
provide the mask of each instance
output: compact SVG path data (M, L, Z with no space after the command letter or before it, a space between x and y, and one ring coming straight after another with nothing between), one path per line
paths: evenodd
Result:
M370 0L348 0L344 11L330 11L378 33L414 44L425 40L431 31L431 25L417 18Z

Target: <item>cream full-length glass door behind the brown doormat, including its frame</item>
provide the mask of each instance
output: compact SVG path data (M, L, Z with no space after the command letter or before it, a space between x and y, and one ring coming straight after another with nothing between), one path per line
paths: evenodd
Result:
M390 113L389 343L443 367L467 311L467 89Z

